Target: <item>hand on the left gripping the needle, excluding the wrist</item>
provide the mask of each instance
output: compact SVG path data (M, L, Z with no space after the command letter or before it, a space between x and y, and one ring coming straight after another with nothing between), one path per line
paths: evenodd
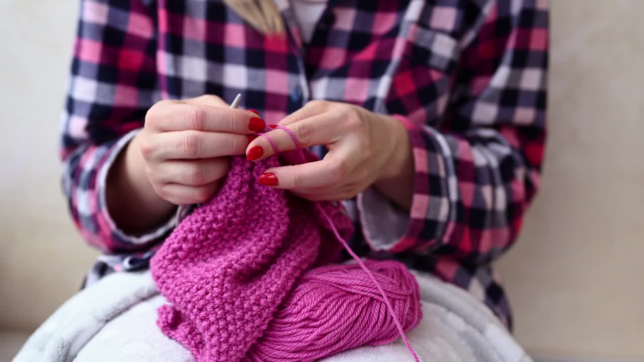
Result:
M243 155L251 133L265 126L256 113L232 110L219 97L203 95L156 103L133 142L161 198L197 204L218 190L230 167L228 156Z

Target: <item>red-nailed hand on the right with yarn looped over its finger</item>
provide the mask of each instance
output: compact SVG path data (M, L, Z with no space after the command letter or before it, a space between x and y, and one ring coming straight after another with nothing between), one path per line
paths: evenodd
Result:
M308 200L345 200L374 182L403 172L411 153L408 133L397 119L359 106L313 100L279 122L289 128L303 148L324 145L323 160L267 169L258 181L289 189ZM283 129L266 133L279 151L296 149ZM274 155L263 137L249 144L246 155L257 161Z

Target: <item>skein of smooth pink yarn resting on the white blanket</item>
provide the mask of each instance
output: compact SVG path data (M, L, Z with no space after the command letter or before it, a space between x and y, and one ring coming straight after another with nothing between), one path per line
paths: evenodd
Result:
M308 271L273 316L243 361L307 362L359 346L377 346L399 337L421 314L415 278L398 262L365 262L388 296L383 297L359 265L328 265Z

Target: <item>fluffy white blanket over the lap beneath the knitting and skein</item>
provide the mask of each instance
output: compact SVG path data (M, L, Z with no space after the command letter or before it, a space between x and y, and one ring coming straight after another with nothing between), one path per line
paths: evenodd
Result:
M453 285L414 274L421 287L423 318L407 336L421 361L532 361L486 306ZM156 309L165 303L149 272L110 274L54 312L14 362L194 362L188 350L156 327ZM399 338L322 361L413 358Z

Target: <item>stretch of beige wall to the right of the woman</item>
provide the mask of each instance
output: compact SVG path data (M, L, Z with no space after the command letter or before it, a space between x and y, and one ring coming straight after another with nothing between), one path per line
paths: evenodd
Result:
M542 193L502 260L527 347L644 360L644 1L553 0Z

